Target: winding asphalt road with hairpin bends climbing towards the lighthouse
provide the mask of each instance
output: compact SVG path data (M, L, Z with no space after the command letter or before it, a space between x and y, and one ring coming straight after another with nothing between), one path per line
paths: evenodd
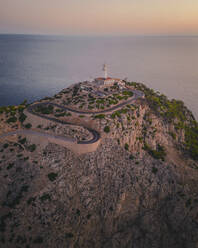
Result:
M66 121L63 121L63 120L59 120L59 119L56 119L54 117L49 117L49 116L42 115L40 113L35 112L35 109L37 107L39 107L39 106L52 105L52 106L58 107L60 109L70 111L70 112L73 112L73 113L77 113L77 114L85 114L85 115L103 114L103 113L112 112L112 111L114 111L116 109L119 109L119 108L121 108L121 107L123 107L123 106L125 106L127 104L132 103L133 101L137 100L138 98L143 98L144 97L144 93L141 92L141 91L138 91L138 90L131 90L131 91L133 92L133 97L130 98L129 100L127 100L125 102L122 102L122 103L120 103L120 104L118 104L116 106L113 106L111 108L108 108L108 109L105 109L105 110L100 110L100 111L75 110L75 109L72 109L70 107L61 106L59 104L52 103L52 102L36 103L36 104L30 105L30 106L27 107L26 110L30 114L38 116L38 117L41 117L43 119L46 119L46 120L49 120L49 121L52 121L52 122L55 122L55 123L60 123L60 124L63 124L63 125L75 125L75 126L81 126L81 127L85 128L86 130L88 130L92 134L92 139L90 139L90 140L76 141L74 138L71 138L71 137L58 136L58 135L55 135L55 134L48 134L48 133L42 133L42 132L38 132L38 131L25 130L25 129L16 130L16 131L12 131L12 132L2 134L2 135L0 135L0 138L8 137L8 136L15 135L15 134L30 134L30 135L38 135L38 136L46 137L46 138L54 138L54 139L58 139L58 140L61 140L61 141L67 141L67 142L69 141L69 142L73 142L73 143L75 142L77 144L93 144L93 143L97 142L100 139L100 133L98 131L96 131L96 130L94 130L92 128L88 128L84 124L81 124L81 125L73 124L71 122L66 122Z

